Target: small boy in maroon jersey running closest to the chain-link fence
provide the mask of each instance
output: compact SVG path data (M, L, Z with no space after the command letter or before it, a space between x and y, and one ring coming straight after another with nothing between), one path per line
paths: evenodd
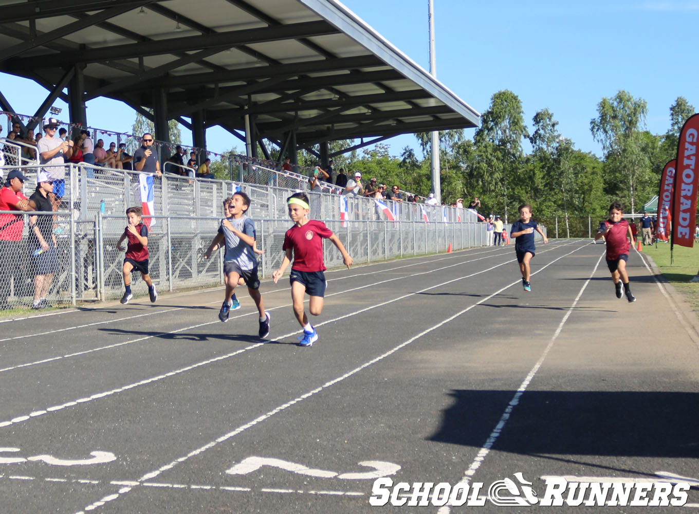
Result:
M155 303L158 299L158 293L153 287L153 281L150 280L148 274L148 227L141 223L140 218L143 215L143 210L140 207L129 207L127 209L127 217L129 224L124 229L124 234L117 241L117 250L124 251L122 243L124 239L129 240L127 247L127 255L124 257L124 296L121 299L122 304L126 305L129 300L134 297L131 294L131 270L140 271L143 280L148 285L148 296L150 301Z

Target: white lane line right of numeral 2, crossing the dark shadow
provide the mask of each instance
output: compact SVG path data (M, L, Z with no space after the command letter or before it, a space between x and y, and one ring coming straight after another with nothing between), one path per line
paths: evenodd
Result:
M473 459L473 462L471 462L470 466L468 466L468 469L466 469L466 472L463 473L463 478L459 480L460 483L466 483L468 484L473 478L473 475L477 471L478 468L480 468L480 465L483 463L487 455L490 453L491 448L493 448L493 445L495 442L498 440L498 437L500 437L500 434L502 434L503 429L505 428L505 424L507 424L507 421L510 420L510 415L512 415L512 411L514 408L519 404L519 399L521 398L522 394L526 391L527 387L531 383L531 381L534 379L534 376L536 373L539 371L540 367L542 364L544 364L544 360L546 359L547 355L549 355L549 351L554 346L554 343L556 342L556 339L559 337L561 334L561 330L563 330L563 325L565 322L568 321L568 317L570 317L570 314L572 313L573 309L575 309L575 306L577 305L577 302L579 299L582 297L582 294L587 288L587 285L590 283L592 280L593 276L595 275L598 266L600 265L600 262L602 262L602 257L604 257L604 254L600 255L599 259L597 259L597 264L595 264L594 269L592 270L592 273L590 274L589 278L585 280L585 283L582 285L580 288L580 291L577 294L577 297L575 297L575 300L572 302L572 305L567 309L565 315L563 316L563 320L559 323L558 328L556 328L556 331L554 332L554 335L551 338L551 341L549 341L549 344L546 346L544 351L541 354L541 357L539 357L539 360L534 364L534 367L529 371L527 374L526 378L524 378L524 381L519 385L517 388L517 392L514 393L514 396L510 400L510 402L507 404L507 407L505 408L505 411L503 414L500 416L500 420L498 421L498 424L493 428L493 431L491 431L491 434L488 436L486 442L480 450L478 450L478 453ZM445 505L443 507L440 507L440 509L437 511L437 514L449 514L451 512L451 507L452 505Z

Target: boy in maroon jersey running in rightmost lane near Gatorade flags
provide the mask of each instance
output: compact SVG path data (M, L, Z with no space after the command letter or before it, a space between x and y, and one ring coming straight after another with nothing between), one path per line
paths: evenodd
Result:
M595 241L604 237L607 241L607 268L612 273L614 289L617 298L621 298L621 285L624 284L624 292L629 302L636 301L628 283L628 273L626 273L626 261L628 251L633 246L633 233L631 227L624 217L624 206L621 202L615 201L610 206L610 219L600 222L600 227L595 234ZM629 243L630 240L630 243Z

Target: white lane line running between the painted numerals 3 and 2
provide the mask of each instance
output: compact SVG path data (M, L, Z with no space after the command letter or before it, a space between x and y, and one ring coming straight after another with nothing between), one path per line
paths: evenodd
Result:
M535 273L532 273L532 275L535 275L537 273L540 273L541 271L544 271L545 269L547 269L547 267L554 264L554 262L557 262L560 259L563 259L563 257L568 257L568 255L571 255L572 253L577 252L577 250L580 250L581 248L585 248L585 246L579 246L578 248L575 248L575 250L572 250L571 252L568 252L565 255L561 255L561 257L557 257L556 259L552 260L552 262L549 262L549 264L542 266ZM602 259L602 257L600 257L600 260L601 259ZM597 262L598 265L599 265L599 262L600 261L598 260L598 262ZM493 268L495 268L495 267L497 267L497 266L493 266ZM479 273L482 273L482 272L479 272ZM477 273L474 273L474 274L477 274ZM440 284L434 285L432 287L428 287L426 290L433 289L434 287L440 287L442 285L446 285L446 284L455 282L456 280L461 280L461 278L447 280L447 282L440 283ZM589 283L589 279L587 280L586 284L587 283ZM491 298L497 296L501 292L503 292L503 291L505 291L505 290L509 289L510 287L517 285L517 284L521 284L520 279L515 280L514 282L510 283L509 285L506 285L505 287L501 287L499 290L497 290L493 294L489 295L488 297L485 297L485 298L477 301L475 304L470 305L463 310L460 310L458 313L447 317L445 320L442 320L438 324L435 324L432 327L429 327L428 329L421 331L419 334L412 336L407 341L403 341L403 343L395 346L394 348L391 348L391 350L383 353L382 355L379 355L378 357L375 357L375 358L371 359L370 361L365 362L364 364L361 364L361 366L354 368L352 371L348 371L347 373L345 373L342 376L339 376L338 378L333 378L333 380L329 380L328 382L324 383L323 385L316 387L314 390L310 390L310 391L306 392L305 394L301 394L301 396L294 398L291 401L287 401L286 404L282 404L276 408L273 408L271 411L268 411L268 412L256 417L254 420L247 422L243 425L240 425L240 427L234 429L233 431L230 431L228 434L224 434L223 436L220 436L219 438L215 439L215 441L211 441L210 443L206 443L205 445L201 446L200 448L197 448L196 450L192 450L184 457L180 457L178 459L173 460L172 462L169 462L168 464L165 464L164 466L160 466L158 469L156 469L154 471L150 471L150 473L145 473L145 475L138 478L138 482L144 483L146 481L150 481L153 478L156 478L157 476L159 476L161 473L164 473L164 471L168 471L170 469L173 469L175 466L177 466L181 462L185 462L188 459L190 459L191 457L196 457L196 455L199 455L203 452L206 452L207 450L214 448L216 445L219 445L220 443L224 443L225 441L228 441L230 438L233 438L233 437L237 436L238 434L241 434L242 432L246 431L247 429L250 429L251 427L254 427L257 424L264 422L265 420L268 420L268 418L272 417L273 415L278 414L282 411L285 411L285 410L287 410L287 408L294 406L295 404L298 404L299 402L301 402L305 399L313 397L313 396L315 396L315 394L318 394L319 392L322 392L323 390L326 390L329 387L332 387L333 385L336 385L336 384L342 382L343 380L346 380L347 378L349 378L351 376L354 376L356 373L359 373L360 371L367 369L369 366L373 366L373 364L376 364L377 362L382 361L386 357L393 355L394 353L398 352L398 350L405 348L405 346L408 346L413 341L416 341L417 339L421 338L422 336L429 334L431 331L434 331L434 330L444 326L445 324L452 322L457 317L459 317L465 313L468 313L469 310L479 306L480 304L482 304L486 301L489 301ZM426 290L423 290L423 291L426 291ZM417 294L417 293L412 293L412 294ZM412 296L412 294L405 295L405 296ZM581 294L582 294L582 292L581 292ZM577 299L575 301L577 302ZM380 305L389 304L391 302L392 301L387 301L387 302L384 302L383 304L380 304ZM569 314L570 314L570 312L567 315L569 315ZM567 319L567 317L565 319ZM549 346L550 346L550 344L549 344ZM124 496L124 494L127 494L130 490L131 490L131 488L127 487L127 488L124 488L124 490L123 490L124 492L120 491L120 492L117 492L115 494L110 494L106 497L103 497L102 499L95 501L94 503L86 506L83 511L79 511L75 514L85 514L85 511L93 511L94 509L99 508L100 506L103 506L104 504L108 503L109 501L113 501L113 500L117 499L117 497Z

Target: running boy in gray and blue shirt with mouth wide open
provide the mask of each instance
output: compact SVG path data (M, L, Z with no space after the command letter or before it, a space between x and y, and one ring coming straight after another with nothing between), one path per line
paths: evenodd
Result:
M226 297L219 310L219 320L228 321L230 311L240 308L240 302L235 297L235 289L242 279L259 311L259 337L264 338L269 334L270 316L265 311L262 295L259 292L256 254L262 252L257 250L255 245L255 225L249 217L243 216L249 207L250 197L243 192L236 192L232 198L226 199L224 203L226 217L221 220L218 234L206 250L204 258L208 259L212 250L221 248L222 243L225 245Z

